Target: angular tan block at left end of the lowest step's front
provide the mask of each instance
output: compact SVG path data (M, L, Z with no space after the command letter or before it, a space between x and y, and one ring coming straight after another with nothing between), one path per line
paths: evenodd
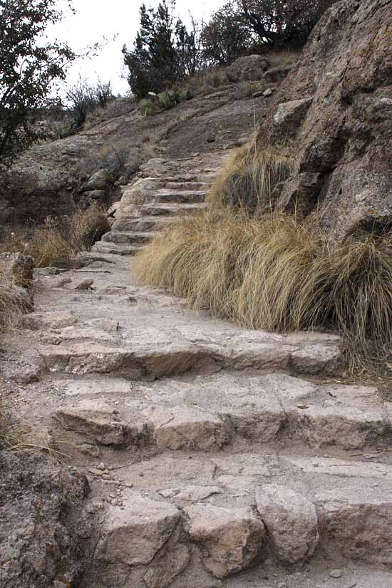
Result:
M129 566L148 565L170 539L180 511L167 502L130 492L124 510L110 505L100 531L96 559ZM153 579L151 579L153 584Z

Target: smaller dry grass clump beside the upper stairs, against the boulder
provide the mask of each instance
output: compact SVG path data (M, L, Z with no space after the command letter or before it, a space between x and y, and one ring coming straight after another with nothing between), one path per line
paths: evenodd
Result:
M272 210L283 183L295 175L296 161L289 153L246 146L222 168L209 201L251 212Z

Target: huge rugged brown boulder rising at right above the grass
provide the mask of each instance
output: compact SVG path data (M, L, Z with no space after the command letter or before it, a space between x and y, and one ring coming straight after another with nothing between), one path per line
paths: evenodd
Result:
M311 187L289 209L316 210L331 242L392 224L392 11L383 0L334 4L282 83L260 148L286 145ZM304 176L305 174L305 176ZM306 179L306 184L309 183Z

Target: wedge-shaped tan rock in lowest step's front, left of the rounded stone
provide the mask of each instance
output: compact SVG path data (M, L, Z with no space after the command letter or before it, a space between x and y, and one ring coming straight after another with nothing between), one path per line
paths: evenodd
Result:
M261 553L264 525L251 510L206 504L185 512L190 538L207 550L203 563L215 577L241 572Z

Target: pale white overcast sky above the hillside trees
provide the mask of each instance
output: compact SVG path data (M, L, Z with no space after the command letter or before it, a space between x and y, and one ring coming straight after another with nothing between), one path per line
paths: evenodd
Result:
M77 61L69 70L67 82L76 83L79 74L83 78L112 83L114 93L125 93L128 83L121 78L123 61L121 49L124 43L130 47L139 29L139 7L143 0L73 0L76 15L68 15L53 26L50 36L67 41L74 51L107 38L106 46L96 58ZM157 4L145 0L147 6ZM224 0L177 0L177 13L189 23L189 12L197 20L207 19L212 11L224 4ZM115 41L113 37L116 36Z

